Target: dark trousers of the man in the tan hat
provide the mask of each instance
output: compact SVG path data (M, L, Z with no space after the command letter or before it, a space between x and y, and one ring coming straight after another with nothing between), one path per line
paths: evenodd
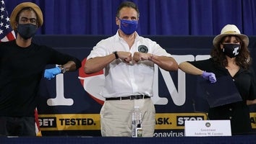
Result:
M35 117L0 116L1 136L35 136Z

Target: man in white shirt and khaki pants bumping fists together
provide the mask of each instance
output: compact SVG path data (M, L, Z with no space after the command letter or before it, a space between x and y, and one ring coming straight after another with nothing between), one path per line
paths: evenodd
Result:
M105 68L106 102L101 109L101 135L130 137L134 107L142 112L142 136L153 137L155 107L153 96L154 64L166 71L177 71L171 54L156 42L137 34L140 12L136 4L124 1L116 12L116 35L101 40L85 63L85 73Z

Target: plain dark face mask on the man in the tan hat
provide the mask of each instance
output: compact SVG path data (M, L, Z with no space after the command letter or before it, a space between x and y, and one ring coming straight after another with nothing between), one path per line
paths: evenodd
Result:
M19 32L20 36L25 40L33 37L38 28L35 24L18 24L17 32Z

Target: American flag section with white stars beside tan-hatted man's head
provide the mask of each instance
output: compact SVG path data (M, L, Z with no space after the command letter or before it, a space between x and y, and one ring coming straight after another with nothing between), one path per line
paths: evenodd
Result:
M4 0L0 1L0 42L7 42L15 39Z

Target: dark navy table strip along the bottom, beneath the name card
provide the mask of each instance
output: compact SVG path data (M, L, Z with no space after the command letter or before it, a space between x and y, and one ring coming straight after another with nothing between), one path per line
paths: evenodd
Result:
M230 137L176 137L176 138L120 138L120 137L36 137L36 138L6 138L0 137L0 143L256 143L256 135L236 135Z

